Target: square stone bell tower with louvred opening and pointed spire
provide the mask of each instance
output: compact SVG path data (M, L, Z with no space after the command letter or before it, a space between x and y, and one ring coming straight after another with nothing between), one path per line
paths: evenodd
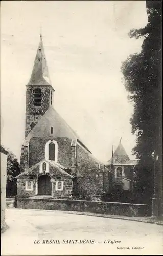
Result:
M25 136L29 134L35 124L53 104L55 90L51 85L41 34L31 78L26 88Z

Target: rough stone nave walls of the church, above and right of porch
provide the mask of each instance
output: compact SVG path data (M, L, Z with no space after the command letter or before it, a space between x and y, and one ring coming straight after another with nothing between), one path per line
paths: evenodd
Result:
M51 139L58 144L58 163L71 169L77 177L73 195L101 195L103 190L109 190L108 169L83 146L68 138L31 138L29 168L45 158L45 145ZM21 153L21 166L27 168L28 147L22 147Z

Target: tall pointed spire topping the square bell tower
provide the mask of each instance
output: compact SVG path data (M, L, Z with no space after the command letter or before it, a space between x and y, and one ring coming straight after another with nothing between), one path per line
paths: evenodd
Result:
M37 54L35 57L31 78L27 85L29 86L51 85L41 34L40 34L40 42L37 49Z

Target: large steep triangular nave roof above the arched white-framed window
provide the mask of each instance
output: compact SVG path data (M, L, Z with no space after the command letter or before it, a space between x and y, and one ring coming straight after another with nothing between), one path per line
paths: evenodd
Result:
M53 108L53 106L50 106L50 108L45 112L45 114L41 117L41 119L36 123L36 125L27 135L27 137L25 138L24 145L28 146L29 141L32 137L35 137L35 138L52 137L51 127L53 127L54 138L76 139L82 146L86 148L87 151L89 151L88 148L82 143L77 133L57 113L57 111Z

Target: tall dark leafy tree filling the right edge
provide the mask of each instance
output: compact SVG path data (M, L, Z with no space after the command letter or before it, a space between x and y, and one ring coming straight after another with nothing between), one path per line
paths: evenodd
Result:
M157 168L162 165L162 77L161 77L161 1L146 1L148 24L133 29L129 36L144 41L139 54L122 63L125 88L134 103L130 119L136 134L133 153L139 159L135 169L135 184L141 202L150 203L153 193L153 151L159 155Z

